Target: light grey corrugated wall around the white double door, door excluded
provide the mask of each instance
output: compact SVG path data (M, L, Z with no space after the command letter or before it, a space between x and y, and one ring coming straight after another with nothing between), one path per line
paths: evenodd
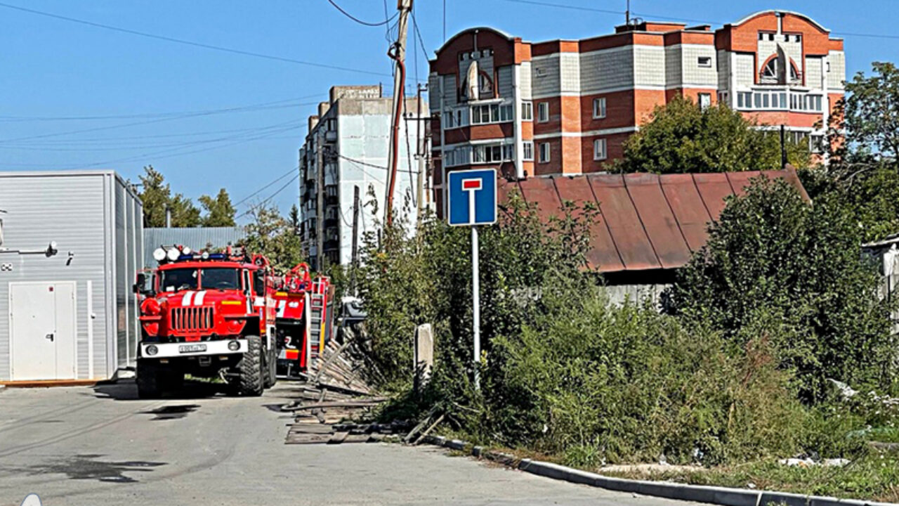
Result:
M134 278L141 255L131 239L142 236L137 195L111 171L3 173L0 210L5 211L2 248L42 250L51 240L58 248L50 258L0 252L0 262L13 265L12 272L0 272L0 381L11 379L9 284L16 282L76 282L79 379L108 378L117 366L128 365L134 347L123 355L115 348L117 338L127 344L138 328L129 296L133 281L123 283ZM138 219L129 222L129 215ZM126 331L117 336L117 329Z

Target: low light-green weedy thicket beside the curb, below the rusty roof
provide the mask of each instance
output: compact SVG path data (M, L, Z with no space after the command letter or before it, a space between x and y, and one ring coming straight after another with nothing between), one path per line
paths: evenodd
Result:
M595 288L575 297L494 343L485 419L518 421L505 425L503 444L572 465L660 456L710 464L801 450L806 413L766 341L734 348L653 308L610 307Z

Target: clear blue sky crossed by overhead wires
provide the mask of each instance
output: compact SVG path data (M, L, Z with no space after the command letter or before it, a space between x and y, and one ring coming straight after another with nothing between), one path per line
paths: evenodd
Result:
M535 1L622 12L625 5L625 0ZM335 2L364 21L385 16L384 0ZM350 69L185 46L0 5L0 169L103 167L136 180L141 167L152 164L175 191L193 199L225 187L240 201L296 167L307 116L330 86L391 86L385 28L354 23L326 0L0 4ZM446 5L448 36L491 25L528 41L575 39L611 32L623 20L623 14L509 0L447 0ZM387 8L393 14L396 0L387 0ZM843 36L850 76L899 54L899 38L892 32L899 20L895 0L631 2L632 11L647 20L687 18L715 27L770 8L807 14ZM416 0L415 18L432 55L442 41L442 1ZM890 37L852 35L860 33ZM420 79L427 76L416 39L410 32L409 86L415 68ZM283 187L272 202L286 211L298 194L296 184L284 185L289 177L246 203Z

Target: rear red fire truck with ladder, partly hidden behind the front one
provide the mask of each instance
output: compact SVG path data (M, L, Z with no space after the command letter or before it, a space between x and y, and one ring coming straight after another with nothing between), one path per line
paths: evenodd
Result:
M313 279L305 263L283 277L274 294L279 375L307 372L319 349L331 339L333 292L330 278Z

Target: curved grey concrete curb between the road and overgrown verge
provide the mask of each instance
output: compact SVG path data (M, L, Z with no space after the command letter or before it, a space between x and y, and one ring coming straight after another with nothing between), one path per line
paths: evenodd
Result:
M464 451L469 449L472 456L486 458L525 473L538 474L555 480L581 483L616 492L639 493L641 495L680 501L708 502L722 506L765 506L770 503L784 503L788 506L895 506L895 503L891 502L859 501L856 499L837 499L836 497L802 495L789 492L755 491L728 487L612 478L601 474L588 473L565 465L557 465L530 458L520 459L507 453L471 446L459 439L447 440L447 438L439 436L429 436L424 438L424 442L455 450Z

